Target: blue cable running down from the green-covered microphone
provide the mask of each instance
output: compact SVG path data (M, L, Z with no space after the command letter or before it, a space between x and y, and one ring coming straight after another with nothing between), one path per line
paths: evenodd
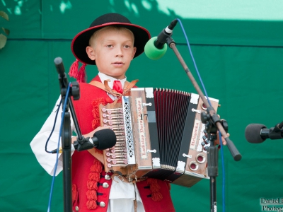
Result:
M209 101L209 98L208 98L208 95L207 95L207 90L205 89L204 87L204 83L202 82L202 78L200 76L200 72L199 70L197 69L197 64L195 62L195 58L194 56L192 55L192 50L190 49L190 42L189 40L187 39L187 34L185 33L185 29L183 27L183 24L181 22L181 20L179 18L177 18L178 22L180 23L180 26L183 30L183 33L185 35L185 40L187 41L187 47L189 48L189 51L190 51L190 56L192 57L192 61L194 63L194 66L195 66L195 70L197 72L197 76L199 77L200 79L200 83L202 84L202 88L204 90L204 93L207 97L207 101L209 102L209 105L212 106L211 102ZM222 170L223 170L223 182L222 182L222 206L223 206L223 211L225 212L225 171L224 171L224 153L223 153L223 148L222 148L222 141L221 141L221 134L220 134L220 131L219 131L219 140L220 140L220 145L221 145L221 162L222 162Z

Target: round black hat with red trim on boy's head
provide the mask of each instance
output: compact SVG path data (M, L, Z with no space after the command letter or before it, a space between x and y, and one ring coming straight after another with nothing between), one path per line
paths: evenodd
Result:
M88 29L81 31L81 33L74 37L71 42L71 51L76 59L84 64L96 64L95 60L88 58L86 47L89 45L89 39L93 33L108 25L121 26L132 31L134 34L134 47L137 47L137 52L134 54L134 57L144 52L144 45L146 45L146 42L151 38L149 31L139 25L132 24L129 19L118 13L107 13L96 18Z

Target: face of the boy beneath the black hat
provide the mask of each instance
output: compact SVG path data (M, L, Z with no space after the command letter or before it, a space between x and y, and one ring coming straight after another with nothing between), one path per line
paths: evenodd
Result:
M98 32L91 47L86 47L86 52L90 59L96 60L98 71L123 79L136 49L132 33L127 30L105 28Z

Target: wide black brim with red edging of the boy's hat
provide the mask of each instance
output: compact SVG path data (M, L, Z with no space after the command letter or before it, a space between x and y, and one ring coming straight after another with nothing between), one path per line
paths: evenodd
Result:
M93 33L108 25L122 26L132 31L132 33L134 34L134 47L137 47L137 51L136 54L134 54L134 57L137 57L139 56L139 54L144 52L144 46L146 45L146 42L148 42L151 38L151 35L149 34L149 31L146 30L146 28L142 28L141 26L134 25L132 23L112 22L88 28L81 31L81 33L78 33L74 37L73 41L71 42L71 51L73 52L76 59L79 59L79 61L85 64L96 65L96 61L89 59L88 55L86 54L86 47L89 45L88 42Z

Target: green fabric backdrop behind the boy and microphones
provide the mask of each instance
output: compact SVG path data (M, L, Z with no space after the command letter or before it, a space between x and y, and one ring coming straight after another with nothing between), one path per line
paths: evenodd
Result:
M59 96L53 60L62 57L68 71L74 61L71 39L108 12L122 13L132 23L149 29L152 36L174 18L182 21L207 93L219 99L218 114L228 121L231 140L243 155L235 162L227 147L224 160L219 154L218 210L224 211L223 190L229 212L262 211L260 199L283 198L282 140L251 144L244 136L248 124L262 123L270 128L283 119L283 4L174 2L174 8L165 0L0 2L0 11L10 18L0 18L1 27L11 30L6 47L0 50L1 211L47 211L52 177L37 163L29 143ZM179 23L173 39L197 78ZM86 70L88 79L97 73L95 66ZM127 78L139 78L139 87L196 93L171 49L157 61L144 54L134 59ZM63 211L62 180L61 173L54 184L54 212ZM207 179L192 188L173 185L171 189L176 211L209 211L209 194Z

